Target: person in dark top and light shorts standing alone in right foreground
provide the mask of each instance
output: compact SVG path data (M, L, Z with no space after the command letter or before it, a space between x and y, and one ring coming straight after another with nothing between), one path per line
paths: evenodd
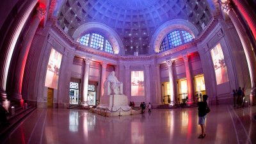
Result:
M203 101L197 102L198 108L198 125L201 126L202 134L198 138L204 138L205 137L205 118L206 118L206 108L207 108L207 102L208 95L203 95Z

